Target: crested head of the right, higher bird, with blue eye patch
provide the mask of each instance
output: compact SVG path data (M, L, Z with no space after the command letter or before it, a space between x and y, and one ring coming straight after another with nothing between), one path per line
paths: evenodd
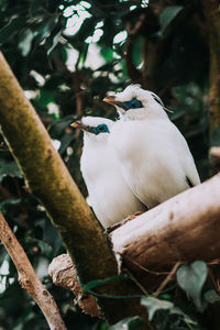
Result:
M122 118L167 118L166 108L160 97L142 89L140 85L130 85L123 91L106 97L103 101L113 105Z

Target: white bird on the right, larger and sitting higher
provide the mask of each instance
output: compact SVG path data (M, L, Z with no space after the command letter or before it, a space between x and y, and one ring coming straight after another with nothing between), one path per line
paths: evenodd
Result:
M103 101L114 105L121 117L110 145L127 184L147 208L200 183L187 142L158 96L131 85Z

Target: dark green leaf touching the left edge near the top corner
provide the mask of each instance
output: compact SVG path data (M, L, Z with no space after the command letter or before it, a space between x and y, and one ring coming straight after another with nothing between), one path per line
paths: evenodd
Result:
M6 43L9 38L13 36L14 33L18 33L19 30L26 25L25 18L15 18L12 19L7 25L0 30L0 43Z

